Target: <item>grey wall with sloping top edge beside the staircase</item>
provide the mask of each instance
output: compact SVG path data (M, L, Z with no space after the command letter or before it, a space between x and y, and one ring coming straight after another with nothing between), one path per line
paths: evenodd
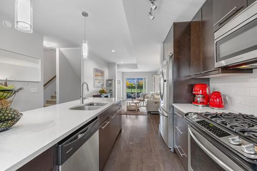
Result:
M56 54L57 103L80 99L81 79L59 48L56 49Z

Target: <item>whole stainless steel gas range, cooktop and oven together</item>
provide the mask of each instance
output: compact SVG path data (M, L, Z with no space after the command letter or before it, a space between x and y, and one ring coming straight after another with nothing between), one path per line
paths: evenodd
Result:
M187 113L189 170L257 170L257 117Z

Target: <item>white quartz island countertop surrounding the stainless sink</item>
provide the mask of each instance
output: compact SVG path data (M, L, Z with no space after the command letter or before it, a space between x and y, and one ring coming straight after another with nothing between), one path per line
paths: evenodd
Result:
M10 130L0 132L0 170L16 170L117 103L115 98L89 98L106 102L97 110L70 110L80 100L22 112Z

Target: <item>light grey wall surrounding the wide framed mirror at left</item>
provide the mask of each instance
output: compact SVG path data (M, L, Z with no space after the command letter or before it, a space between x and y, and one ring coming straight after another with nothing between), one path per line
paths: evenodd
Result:
M11 21L13 27L6 28L2 21ZM13 18L7 18L0 14L0 48L23 53L42 59L41 82L9 82L16 88L24 87L24 90L17 93L12 107L19 111L31 110L43 107L43 35L37 32L23 33L14 29ZM0 68L1 73L1 68ZM31 88L36 88L38 92L31 93Z

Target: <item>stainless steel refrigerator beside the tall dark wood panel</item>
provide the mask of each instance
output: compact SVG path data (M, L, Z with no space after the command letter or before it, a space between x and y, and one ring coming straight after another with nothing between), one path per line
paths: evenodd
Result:
M160 73L160 124L162 139L173 151L173 53L161 64Z

